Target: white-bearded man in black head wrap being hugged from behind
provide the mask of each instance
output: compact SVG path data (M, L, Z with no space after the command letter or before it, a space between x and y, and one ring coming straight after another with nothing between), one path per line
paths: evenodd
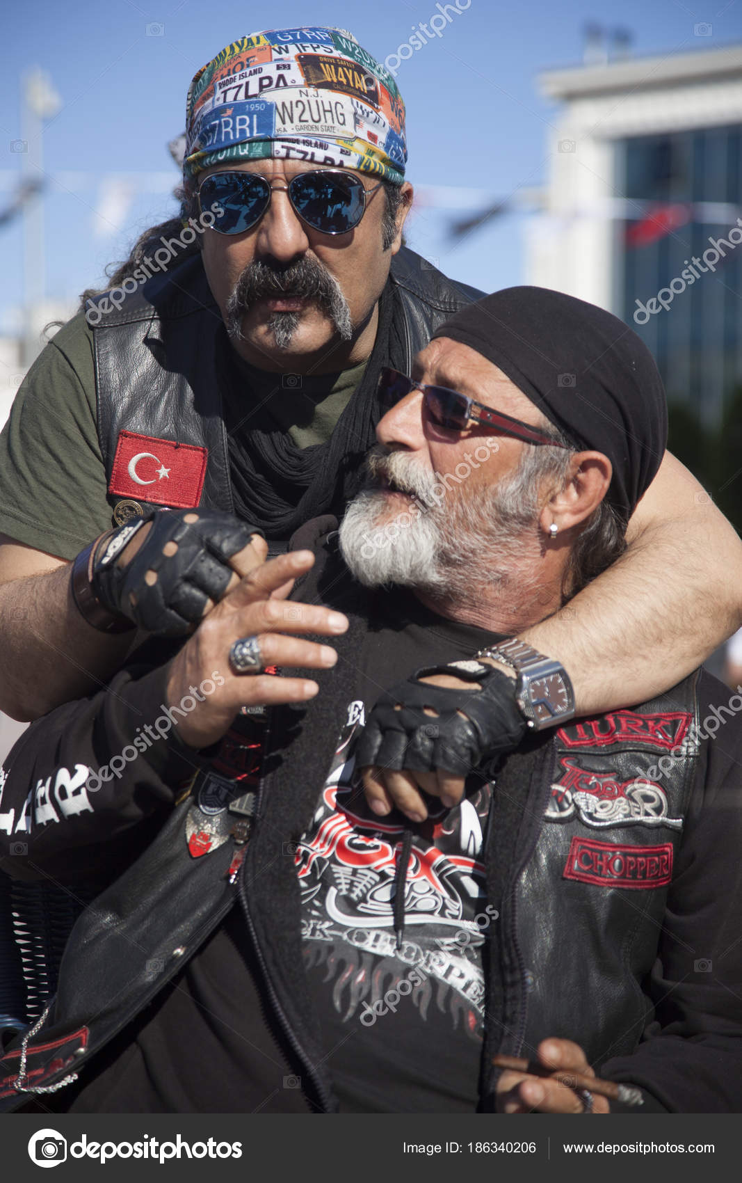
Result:
M590 387L554 387L546 358L585 351ZM306 526L11 754L4 870L110 885L17 1021L0 1105L740 1111L737 709L699 738L720 685L695 673L573 718L559 664L510 635L620 554L664 446L651 356L512 289L380 395L339 538Z

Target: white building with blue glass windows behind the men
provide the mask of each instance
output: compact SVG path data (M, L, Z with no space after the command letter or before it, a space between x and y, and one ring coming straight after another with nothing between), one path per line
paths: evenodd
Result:
M717 421L742 384L742 245L729 239L742 218L742 45L540 82L562 105L527 282L616 312L655 354L670 400ZM725 240L723 258L695 266L711 238Z

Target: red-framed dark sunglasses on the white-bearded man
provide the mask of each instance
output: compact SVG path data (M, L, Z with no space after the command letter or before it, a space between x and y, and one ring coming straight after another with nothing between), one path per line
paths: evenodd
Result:
M389 408L404 399L411 390L422 390L423 406L427 414L438 427L463 432L470 420L484 427L494 427L505 435L522 440L525 444L547 444L551 447L565 447L559 440L546 435L536 427L523 424L520 419L493 411L482 402L475 402L460 390L449 390L447 386L425 386L415 379L401 374L385 366L379 374L378 392L382 406Z

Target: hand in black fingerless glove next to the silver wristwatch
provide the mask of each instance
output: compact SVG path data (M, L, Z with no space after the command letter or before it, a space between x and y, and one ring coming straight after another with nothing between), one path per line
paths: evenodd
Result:
M366 800L376 814L384 816L396 807L411 821L424 821L428 807L421 789L453 808L463 797L469 771L486 757L518 746L526 723L515 703L515 683L492 662L482 664L493 670L483 687L447 666L441 667L445 673L415 675L379 698L357 751ZM482 690L484 702L473 704L473 693Z

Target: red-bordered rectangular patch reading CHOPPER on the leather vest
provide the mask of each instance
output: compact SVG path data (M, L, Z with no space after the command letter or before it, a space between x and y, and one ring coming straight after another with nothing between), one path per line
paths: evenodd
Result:
M662 887L672 878L672 843L627 846L573 838L562 878L600 887Z

